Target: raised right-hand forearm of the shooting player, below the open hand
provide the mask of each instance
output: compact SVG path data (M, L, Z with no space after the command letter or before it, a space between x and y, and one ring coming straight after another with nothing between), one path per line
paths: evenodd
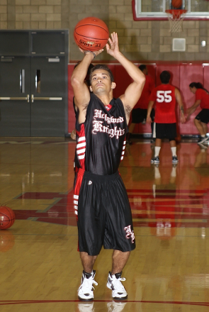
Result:
M145 84L145 74L143 74L142 71L130 62L130 60L128 60L121 52L118 52L117 55L115 55L115 59L125 68L126 72L128 72L134 82Z

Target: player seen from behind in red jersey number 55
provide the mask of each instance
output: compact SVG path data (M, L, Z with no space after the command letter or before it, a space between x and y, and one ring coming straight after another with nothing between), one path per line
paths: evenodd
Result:
M154 147L154 158L151 163L159 164L159 151L163 138L168 138L171 145L172 162L177 163L176 156L176 101L181 111L181 123L185 123L183 114L183 104L181 94L176 87L169 84L171 74L164 70L160 74L162 84L152 90L149 97L149 106L147 109L147 123L151 123L150 113L152 106L156 104L154 121L156 123L156 141Z

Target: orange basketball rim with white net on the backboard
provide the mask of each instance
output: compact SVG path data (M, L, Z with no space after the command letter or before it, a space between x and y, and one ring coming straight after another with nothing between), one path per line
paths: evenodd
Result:
M166 10L170 22L171 33L181 33L183 18L186 12L187 12L186 10L179 9Z

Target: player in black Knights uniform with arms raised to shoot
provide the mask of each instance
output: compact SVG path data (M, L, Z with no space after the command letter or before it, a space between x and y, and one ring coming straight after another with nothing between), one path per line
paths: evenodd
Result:
M91 69L89 93L84 83L87 69L100 54L82 51L84 58L72 73L75 104L79 109L76 122L78 172L74 184L74 208L78 220L79 252L84 267L80 300L94 299L94 262L101 247L113 249L113 266L107 286L113 299L126 299L121 281L135 236L128 195L118 173L125 153L125 135L130 111L137 103L145 84L145 75L119 50L118 35L112 33L106 45L109 55L126 69L133 82L125 94L113 99L113 74L106 65Z

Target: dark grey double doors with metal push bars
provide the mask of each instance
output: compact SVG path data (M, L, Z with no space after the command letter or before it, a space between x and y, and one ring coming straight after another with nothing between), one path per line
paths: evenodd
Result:
M0 136L67 134L68 30L2 30L0 57Z

